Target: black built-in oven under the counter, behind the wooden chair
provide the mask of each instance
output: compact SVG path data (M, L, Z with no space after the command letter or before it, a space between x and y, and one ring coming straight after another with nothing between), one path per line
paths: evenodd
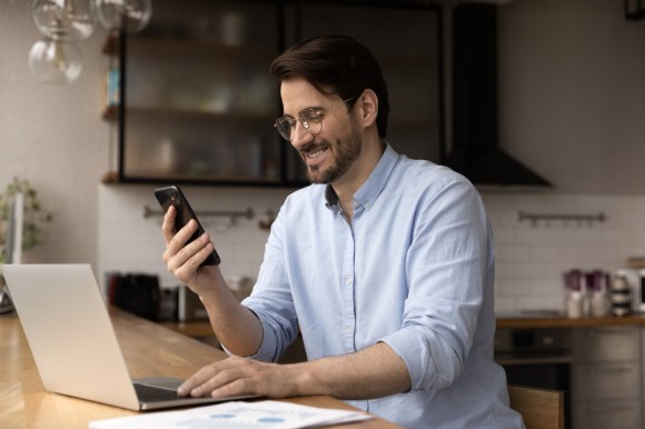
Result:
M564 391L565 427L570 427L570 329L497 329L495 361L506 370L509 385Z

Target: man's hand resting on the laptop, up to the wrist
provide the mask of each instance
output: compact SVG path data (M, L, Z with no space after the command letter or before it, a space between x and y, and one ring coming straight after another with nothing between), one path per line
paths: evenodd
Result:
M177 390L179 396L214 398L260 395L272 398L297 396L291 366L267 363L231 356L201 368Z

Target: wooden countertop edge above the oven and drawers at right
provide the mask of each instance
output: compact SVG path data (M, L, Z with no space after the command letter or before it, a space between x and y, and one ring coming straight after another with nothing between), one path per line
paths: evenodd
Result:
M645 326L645 315L583 317L572 319L565 316L499 315L498 329L518 328L588 328L624 325Z

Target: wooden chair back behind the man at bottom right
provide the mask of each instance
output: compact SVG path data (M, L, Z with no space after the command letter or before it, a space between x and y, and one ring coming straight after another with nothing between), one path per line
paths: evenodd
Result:
M510 408L526 429L564 429L564 392L508 385Z

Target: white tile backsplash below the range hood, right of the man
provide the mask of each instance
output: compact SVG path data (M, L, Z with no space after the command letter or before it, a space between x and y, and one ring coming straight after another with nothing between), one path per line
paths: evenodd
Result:
M495 233L496 309L563 310L563 273L572 268L613 272L645 255L645 198L557 192L490 192L483 199ZM519 221L519 212L604 213L604 222Z

